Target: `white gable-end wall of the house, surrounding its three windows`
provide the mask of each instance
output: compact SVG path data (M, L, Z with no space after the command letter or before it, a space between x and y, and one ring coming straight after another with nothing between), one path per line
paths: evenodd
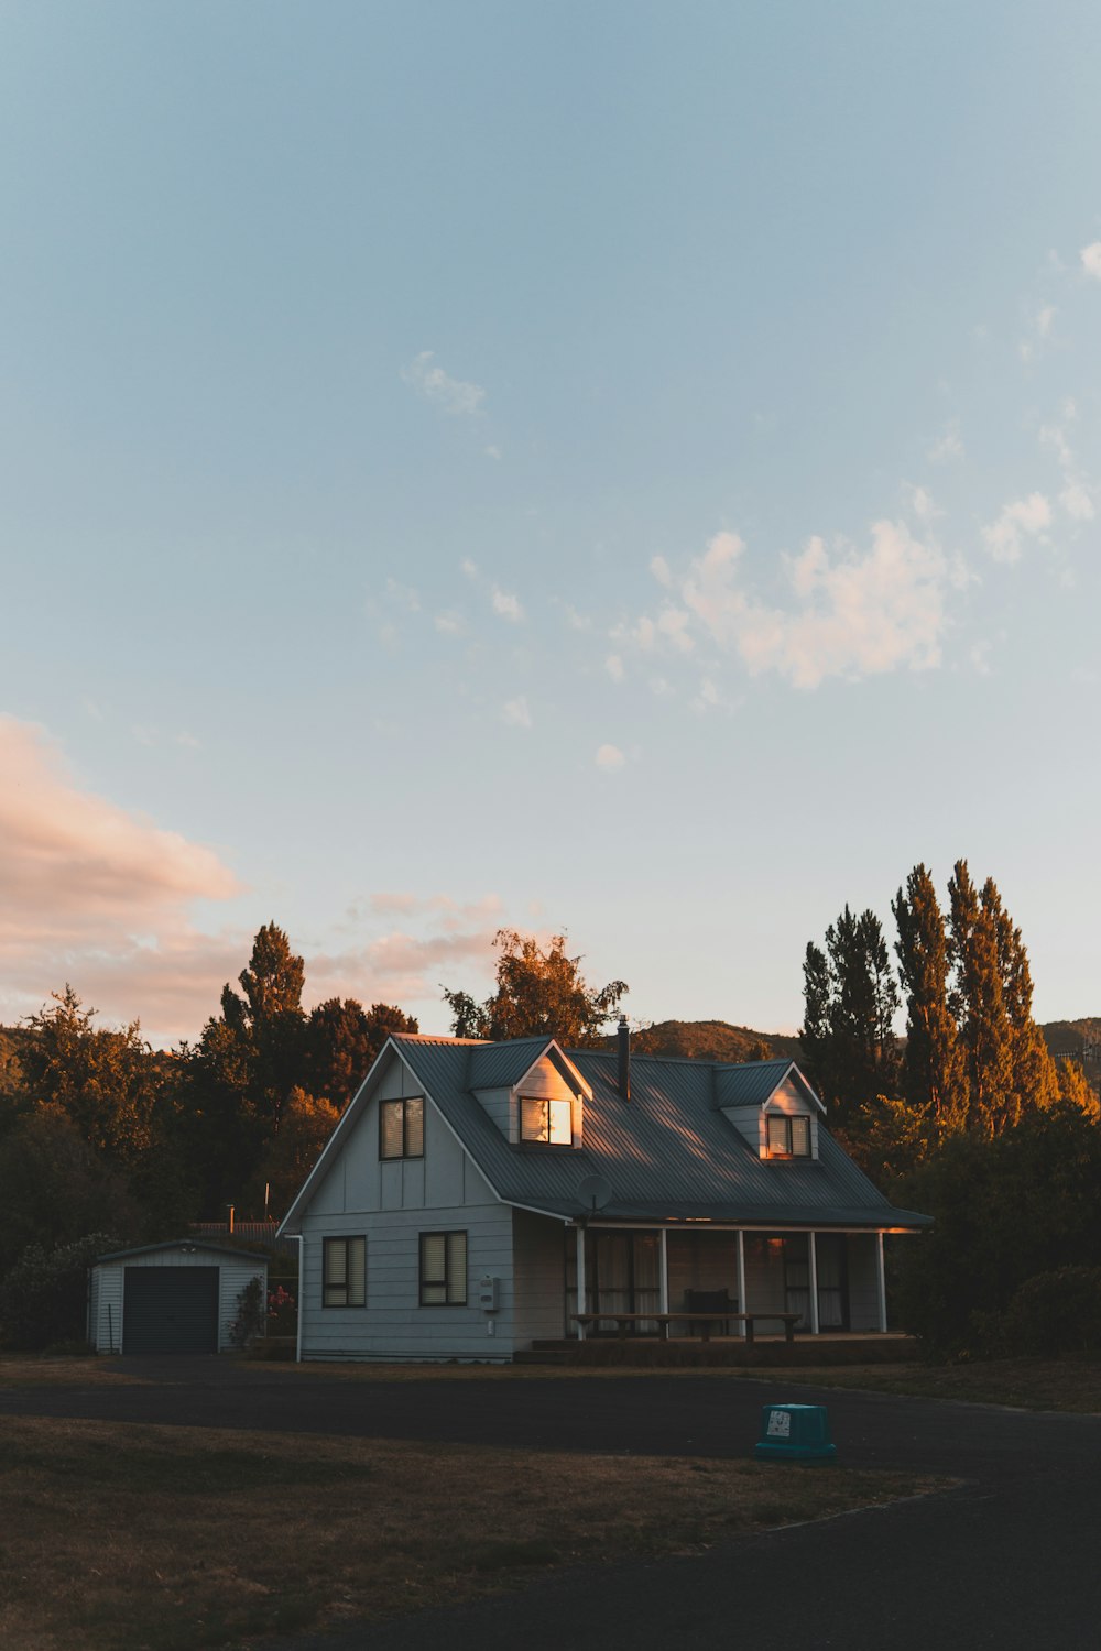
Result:
M418 1095L424 1095L423 1085L391 1052L302 1217L304 1359L512 1357L512 1209L497 1199L429 1098L424 1157L380 1159L380 1103ZM465 1306L421 1306L423 1232L465 1232ZM322 1243L358 1235L366 1238L366 1306L325 1308ZM477 1299L484 1275L500 1281L492 1314Z

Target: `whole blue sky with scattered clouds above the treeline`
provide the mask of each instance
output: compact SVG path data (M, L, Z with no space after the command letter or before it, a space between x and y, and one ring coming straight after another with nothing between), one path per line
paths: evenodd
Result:
M1101 1014L1101 10L0 0L0 1020Z

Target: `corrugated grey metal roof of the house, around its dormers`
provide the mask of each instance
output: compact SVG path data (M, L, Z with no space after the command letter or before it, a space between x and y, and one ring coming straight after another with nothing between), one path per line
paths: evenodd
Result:
M817 1159L763 1161L716 1109L723 1090L740 1096L726 1105L749 1105L749 1093L759 1093L763 1105L791 1070L817 1101L787 1060L735 1067L632 1055L631 1100L624 1101L614 1052L568 1050L593 1088L578 1151L508 1142L472 1093L469 1067L479 1067L479 1088L503 1086L507 1071L518 1081L551 1048L550 1038L484 1045L474 1057L470 1045L449 1038L396 1034L393 1043L505 1204L571 1218L586 1207L579 1182L599 1174L612 1189L601 1210L607 1220L929 1225L926 1215L893 1209L825 1128ZM494 1060L482 1065L490 1052ZM494 1085L484 1081L485 1070L495 1073Z

